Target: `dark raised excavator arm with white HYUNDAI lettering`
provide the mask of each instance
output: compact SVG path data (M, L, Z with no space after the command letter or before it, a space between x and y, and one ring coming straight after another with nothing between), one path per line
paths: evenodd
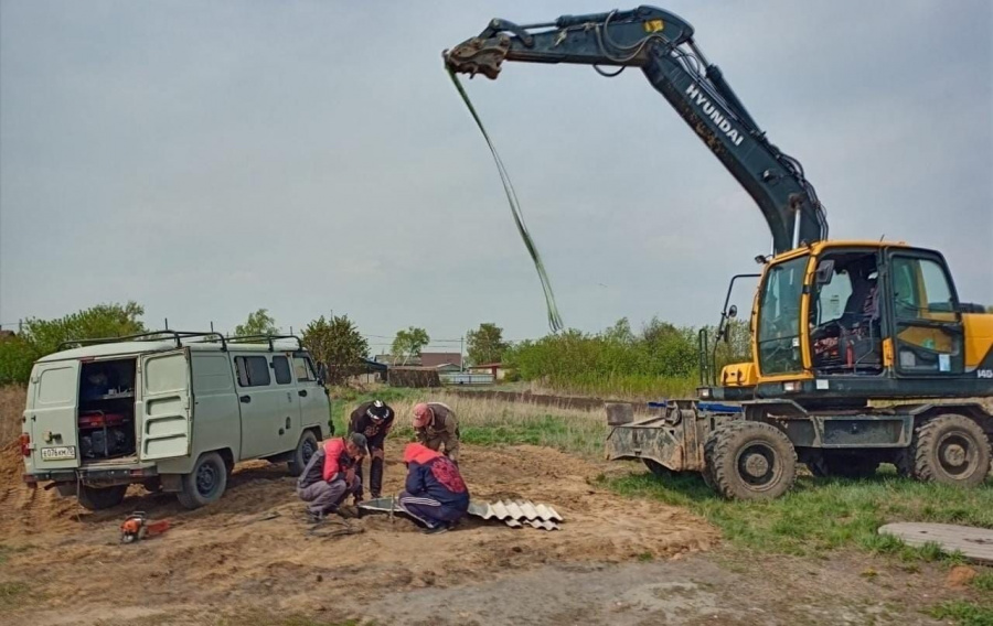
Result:
M694 43L693 26L673 13L639 7L527 25L492 20L444 56L453 73L489 78L504 61L592 65L605 76L638 67L758 204L776 253L828 237L824 208L803 168L766 139ZM611 66L618 69L601 69Z

